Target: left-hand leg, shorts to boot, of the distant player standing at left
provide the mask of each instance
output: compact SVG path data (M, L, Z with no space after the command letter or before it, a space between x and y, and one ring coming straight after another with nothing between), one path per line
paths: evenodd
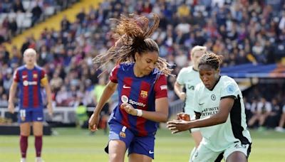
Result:
M28 136L31 133L31 115L26 109L20 109L19 111L19 123L20 123L20 150L21 150L21 162L26 162L26 151L28 149Z

